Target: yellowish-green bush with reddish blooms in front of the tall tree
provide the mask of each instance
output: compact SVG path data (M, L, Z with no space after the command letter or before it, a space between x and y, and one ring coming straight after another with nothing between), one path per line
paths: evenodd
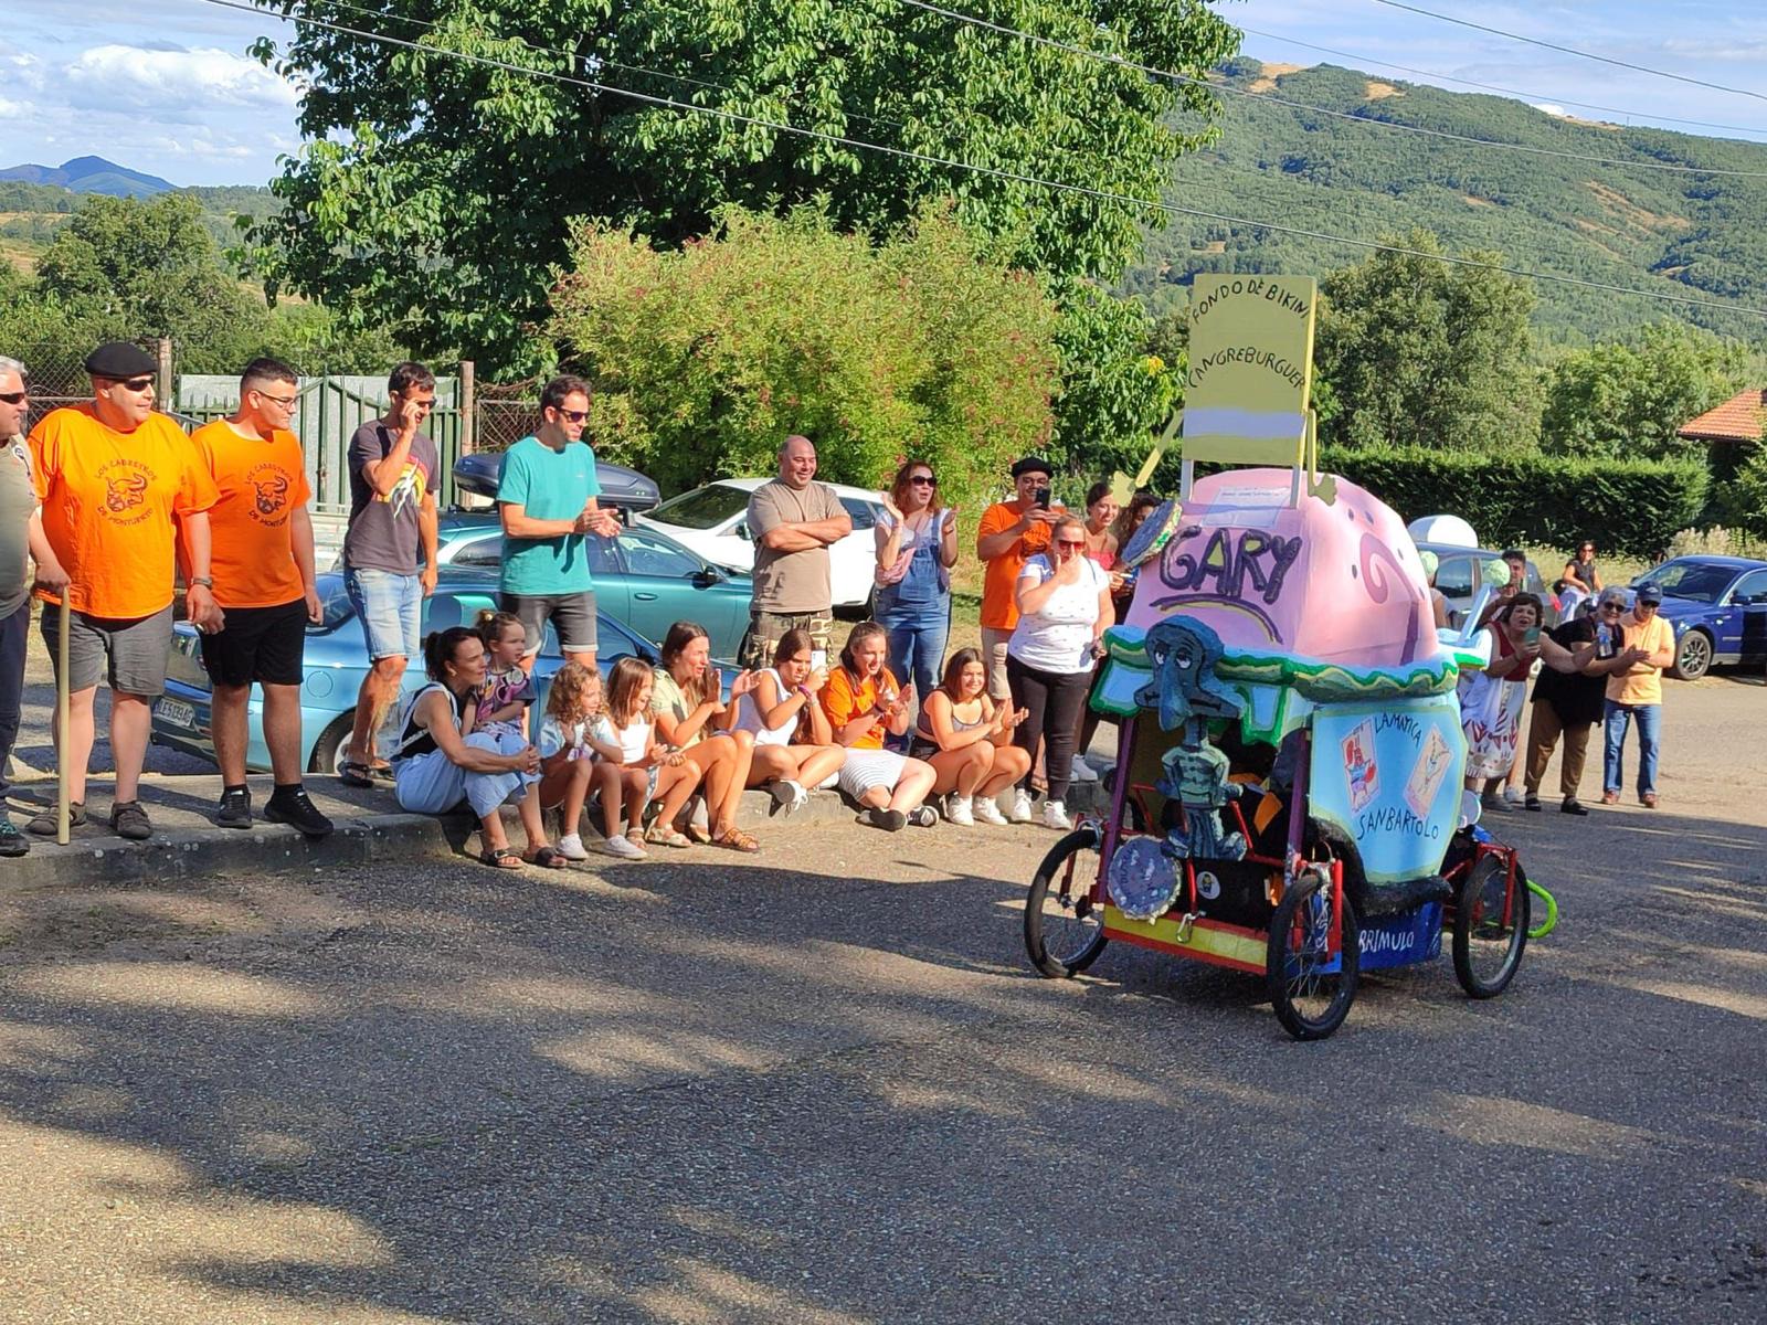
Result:
M878 486L915 456L961 500L1046 440L1055 307L949 212L880 246L813 207L719 219L680 249L576 226L548 330L599 383L604 454L670 491L765 472L804 433L830 481Z

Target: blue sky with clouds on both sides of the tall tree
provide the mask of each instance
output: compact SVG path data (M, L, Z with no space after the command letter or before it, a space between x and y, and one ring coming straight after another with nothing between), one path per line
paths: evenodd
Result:
M1767 97L1767 5L1760 0L1421 0L1424 9L1578 46L1633 64L1751 88ZM961 0L952 4L961 9ZM1712 92L1451 26L1373 0L1223 0L1246 53L1281 64L1389 60L1528 94L1587 118L1735 125L1767 141L1767 99ZM198 0L7 0L0 14L0 166L104 155L173 184L262 184L299 147L295 88L246 57L283 25ZM1348 51L1325 55L1293 42ZM1407 81L1438 81L1392 74ZM1629 115L1590 111L1612 106Z

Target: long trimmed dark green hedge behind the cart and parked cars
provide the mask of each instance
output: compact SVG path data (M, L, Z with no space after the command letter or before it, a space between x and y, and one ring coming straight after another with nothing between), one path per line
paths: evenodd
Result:
M1323 447L1322 466L1361 484L1407 521L1467 519L1486 548L1574 548L1656 556L1700 523L1710 473L1703 459L1477 456L1399 447Z

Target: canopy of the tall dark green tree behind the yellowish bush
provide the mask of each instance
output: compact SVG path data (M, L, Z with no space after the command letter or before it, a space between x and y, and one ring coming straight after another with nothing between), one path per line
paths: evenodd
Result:
M385 0L375 18L341 0L260 4L421 48L295 25L290 42L260 49L304 87L309 140L274 184L288 208L254 230L270 288L493 366L532 366L523 329L544 318L576 217L677 244L728 203L820 200L838 226L880 237L922 200L954 198L1014 265L1113 279L1152 216L535 71L1141 200L1212 134L1217 110L1194 83L899 0ZM1203 0L965 7L1191 76L1239 42Z

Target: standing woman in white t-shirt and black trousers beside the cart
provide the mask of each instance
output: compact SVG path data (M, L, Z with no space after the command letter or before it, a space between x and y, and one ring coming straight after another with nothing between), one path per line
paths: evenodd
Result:
M1012 707L1025 710L1012 744L1050 772L1050 799L1043 823L1071 829L1067 784L1073 781L1074 733L1092 684L1092 668L1104 655L1104 631L1117 613L1110 601L1110 574L1087 558L1087 526L1064 516L1050 532L1050 551L1032 556L1014 587L1018 627L1005 647L1005 677ZM1030 818L1030 774L1020 783L1012 820Z

